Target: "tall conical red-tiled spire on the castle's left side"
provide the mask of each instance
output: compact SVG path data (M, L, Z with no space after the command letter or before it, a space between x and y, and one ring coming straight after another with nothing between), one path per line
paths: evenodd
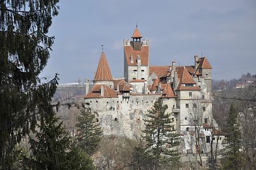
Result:
M94 81L113 81L112 74L109 69L109 64L103 50L101 52L100 61L98 62L98 69Z

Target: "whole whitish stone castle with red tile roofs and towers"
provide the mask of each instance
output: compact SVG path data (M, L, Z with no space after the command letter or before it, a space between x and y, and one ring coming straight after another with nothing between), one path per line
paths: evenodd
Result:
M143 129L148 109L159 98L168 106L174 131L183 137L183 152L195 152L193 143L192 103L200 99L203 105L201 151L208 152L209 122L212 119L212 66L206 57L194 56L194 65L150 66L149 41L142 40L136 26L131 40L123 40L124 78L114 79L106 55L102 51L98 68L89 91L86 82L85 107L96 116L104 135L134 138ZM219 134L221 135L221 134ZM221 137L220 137L221 139ZM194 141L195 142L195 141Z

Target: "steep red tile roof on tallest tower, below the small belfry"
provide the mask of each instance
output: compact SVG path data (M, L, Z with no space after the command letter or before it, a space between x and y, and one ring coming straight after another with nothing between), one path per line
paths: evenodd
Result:
M123 46L127 65L137 66L137 56L141 57L141 65L148 66L148 50L149 46L142 46L141 50L133 50L133 46ZM131 63L131 55L133 55L133 63Z

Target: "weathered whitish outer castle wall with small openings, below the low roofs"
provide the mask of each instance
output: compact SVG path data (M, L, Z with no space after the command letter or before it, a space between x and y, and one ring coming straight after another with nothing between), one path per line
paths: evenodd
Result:
M130 96L129 100L118 98L85 99L85 107L90 108L97 117L104 135L119 135L134 138L144 127L143 118L146 118L148 109L160 95Z

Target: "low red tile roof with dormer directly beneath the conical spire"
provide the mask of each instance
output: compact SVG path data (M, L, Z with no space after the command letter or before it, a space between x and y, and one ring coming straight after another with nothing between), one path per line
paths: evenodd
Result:
M104 87L104 95L101 96L101 86ZM105 84L95 84L90 92L84 97L86 98L117 98L116 92Z

